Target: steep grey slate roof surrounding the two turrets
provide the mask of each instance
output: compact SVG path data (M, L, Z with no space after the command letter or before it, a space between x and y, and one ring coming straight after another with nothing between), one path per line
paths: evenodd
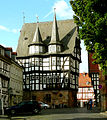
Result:
M40 22L39 29L42 41L45 45L49 45L52 35L53 22ZM72 54L75 47L75 39L77 37L77 26L73 20L57 21L59 40L63 45L63 51L60 54ZM32 43L37 23L25 23L21 29L21 34L17 46L17 56L29 56L28 45ZM48 54L48 51L44 54Z

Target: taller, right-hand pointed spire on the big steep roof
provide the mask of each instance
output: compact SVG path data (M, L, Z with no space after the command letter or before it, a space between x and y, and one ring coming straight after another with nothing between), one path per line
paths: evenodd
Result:
M57 26L56 11L55 10L56 10L56 8L54 8L54 20L53 20L52 36L51 36L50 44L59 43L59 33L58 33L58 26Z

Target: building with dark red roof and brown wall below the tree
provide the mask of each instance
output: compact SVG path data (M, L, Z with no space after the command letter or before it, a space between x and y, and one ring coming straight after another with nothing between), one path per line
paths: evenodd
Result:
M89 53L89 74L92 78L92 84L95 91L96 105L101 108L101 111L107 111L107 75L103 74L98 64L92 64L93 53Z

